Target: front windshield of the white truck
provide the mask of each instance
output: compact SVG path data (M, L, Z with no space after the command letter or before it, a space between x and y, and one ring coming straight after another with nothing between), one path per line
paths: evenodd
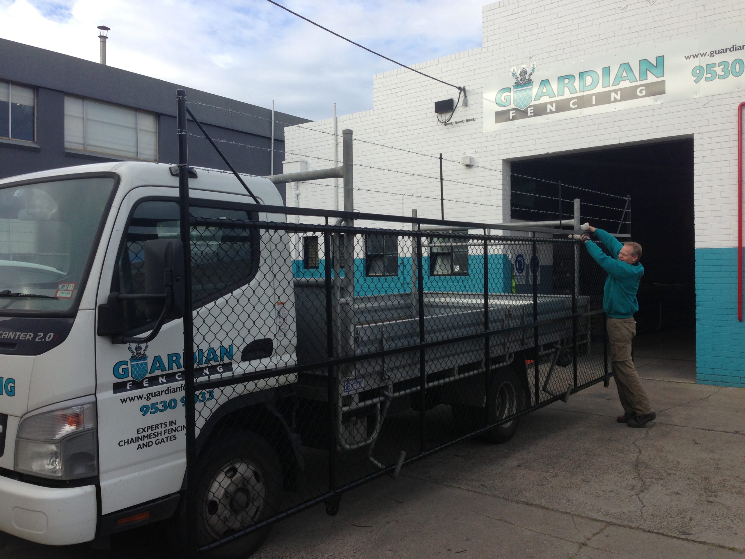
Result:
M75 306L114 183L80 177L0 186L0 314Z

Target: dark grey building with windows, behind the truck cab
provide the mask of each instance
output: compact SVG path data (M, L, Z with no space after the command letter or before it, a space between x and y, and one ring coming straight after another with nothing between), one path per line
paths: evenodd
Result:
M190 107L212 137L235 142L221 149L238 171L270 174L272 110L0 39L0 178L103 161L177 162L177 89L203 104ZM279 112L274 120L281 172L285 123L307 120ZM189 157L226 169L205 140L190 138Z

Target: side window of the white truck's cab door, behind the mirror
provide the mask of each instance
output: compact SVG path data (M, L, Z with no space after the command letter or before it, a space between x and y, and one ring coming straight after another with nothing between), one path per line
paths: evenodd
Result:
M244 210L191 206L200 218L247 220ZM179 206L170 200L147 200L127 224L117 258L112 291L145 293L145 241L179 239ZM259 233L249 229L195 227L191 230L191 297L194 307L216 300L253 279L259 266ZM127 301L127 329L150 322L143 301Z

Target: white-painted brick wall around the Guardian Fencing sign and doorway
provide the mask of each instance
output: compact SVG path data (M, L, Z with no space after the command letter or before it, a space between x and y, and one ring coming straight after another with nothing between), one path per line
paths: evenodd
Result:
M465 86L468 106L459 107L453 120L474 120L451 126L440 124L433 112L434 102L457 98L457 91L405 69L375 76L373 110L339 118L339 130L350 128L355 138L425 154L355 142L358 164L410 173L356 166L355 187L359 190L355 192L355 209L410 215L416 208L420 216L439 218L437 156L443 153L446 218L508 221L510 160L629 142L692 137L697 259L710 262L704 265L697 260L697 278L708 273L708 266L715 267L715 262L727 266L735 262L734 255L730 255L732 262L727 260L726 251L719 260L718 256L712 256L710 261L704 250L727 247L734 250L732 247L737 243L735 110L745 100L745 75L738 78L742 85L735 93L536 123L498 133L483 131L482 97L487 79L509 75L513 66L522 63L543 66L569 63L603 52L611 55L633 49L645 42L668 42L745 24L741 0L505 0L485 6L483 18L480 48L415 66L422 72ZM332 119L305 126L327 133L333 130ZM308 168L332 165L320 158L332 159L333 136L296 127L288 129L286 137L288 154L301 154L290 157L304 158ZM474 156L478 166L460 165L463 155ZM333 208L333 181L317 182L299 187L302 206ZM291 196L288 204L294 204ZM698 287L704 291L709 286L713 291L726 291L731 287L730 279L720 275L712 277L706 286ZM707 295L701 291L701 296ZM729 315L734 315L734 296L726 304ZM714 332L705 308L710 307L700 306L698 311L700 355L708 351L706 347L712 339L708 333ZM736 325L730 326L730 332L742 332ZM703 367L701 361L700 367ZM711 381L706 376L708 373L701 374L702 382ZM745 372L740 378L739 382L745 382Z

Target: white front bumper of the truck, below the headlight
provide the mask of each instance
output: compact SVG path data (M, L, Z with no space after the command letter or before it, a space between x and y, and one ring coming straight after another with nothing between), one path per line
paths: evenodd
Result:
M95 486L40 487L0 476L0 530L51 546L95 537Z

